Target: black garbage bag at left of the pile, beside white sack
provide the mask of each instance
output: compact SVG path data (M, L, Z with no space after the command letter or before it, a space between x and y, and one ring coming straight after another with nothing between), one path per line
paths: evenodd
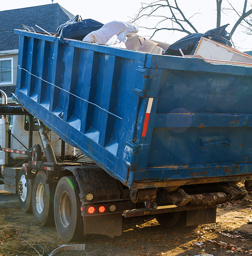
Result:
M76 15L73 19L60 25L57 28L57 33L59 37L82 40L90 32L98 30L102 26L103 23L94 19L82 20L79 15Z

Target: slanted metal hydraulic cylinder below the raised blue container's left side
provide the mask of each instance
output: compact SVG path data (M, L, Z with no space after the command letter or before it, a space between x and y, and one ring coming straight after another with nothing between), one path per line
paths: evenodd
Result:
M49 163L57 163L56 157L53 152L53 147L50 144L50 138L48 132L46 131L46 126L38 120L39 125L39 135L42 141L44 152L46 155L46 161Z

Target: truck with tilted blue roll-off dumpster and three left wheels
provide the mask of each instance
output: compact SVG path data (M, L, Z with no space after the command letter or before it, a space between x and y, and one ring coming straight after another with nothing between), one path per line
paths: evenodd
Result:
M19 106L1 114L37 120L42 146L14 153L28 158L15 186L38 225L72 241L119 236L122 217L212 223L238 182L252 190L252 66L15 33ZM86 159L56 158L48 129Z

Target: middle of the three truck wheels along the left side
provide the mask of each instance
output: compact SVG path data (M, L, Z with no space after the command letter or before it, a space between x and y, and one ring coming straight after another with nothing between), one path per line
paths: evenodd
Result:
M46 173L39 171L32 190L32 210L35 221L40 226L53 225L53 197L55 184L46 184Z

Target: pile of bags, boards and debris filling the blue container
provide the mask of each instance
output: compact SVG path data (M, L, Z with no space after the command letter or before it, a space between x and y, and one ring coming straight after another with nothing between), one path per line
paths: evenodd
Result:
M30 32L58 36L65 39L81 40L88 43L102 44L109 47L124 48L128 50L147 52L151 54L164 54L182 56L184 58L202 58L212 64L229 64L252 66L251 52L244 53L232 48L230 38L225 30L229 24L213 28L205 33L194 33L179 39L173 44L147 39L137 35L138 29L134 25L111 21L103 24L93 19L82 19L76 15L57 28L57 34L51 34L41 27L23 25Z

